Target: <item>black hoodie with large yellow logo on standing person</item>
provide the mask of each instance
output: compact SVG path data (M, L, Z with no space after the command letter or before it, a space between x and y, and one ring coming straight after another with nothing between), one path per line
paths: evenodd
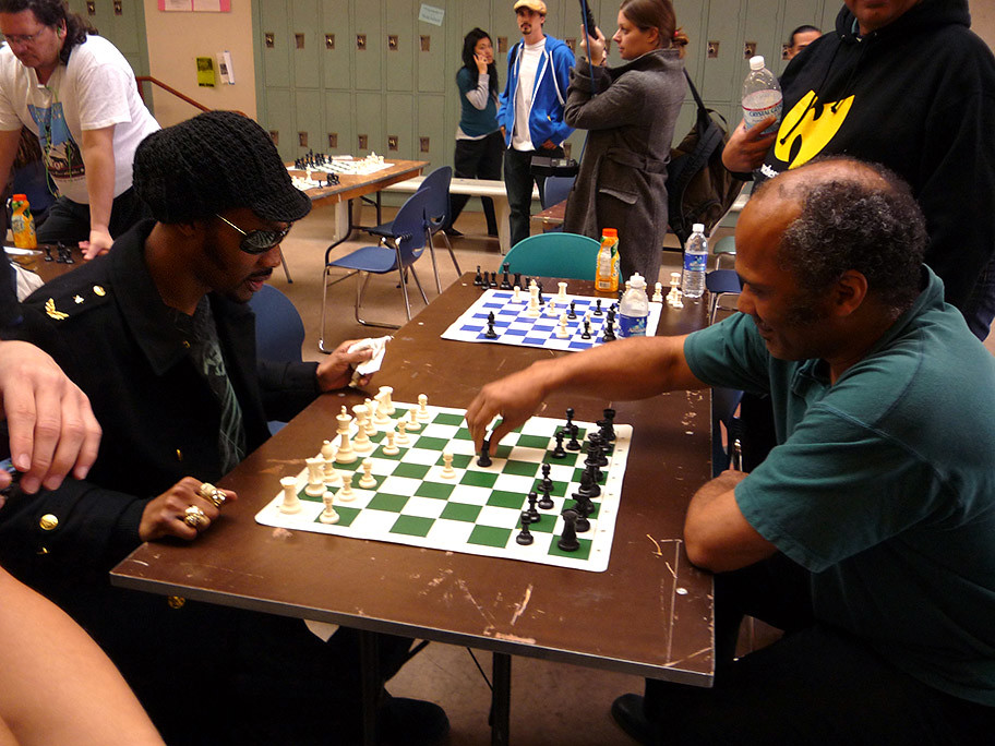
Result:
M846 154L899 173L926 216L926 262L962 310L995 253L995 56L970 23L968 0L922 0L861 36L844 7L784 71L760 169Z

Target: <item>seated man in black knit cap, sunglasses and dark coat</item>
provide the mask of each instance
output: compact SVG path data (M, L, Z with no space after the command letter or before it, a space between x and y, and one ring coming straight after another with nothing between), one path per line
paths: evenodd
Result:
M155 220L25 303L31 339L89 396L104 437L85 481L10 498L0 562L86 627L167 743L355 743L353 630L325 643L297 619L108 581L141 542L211 530L237 495L202 482L256 448L267 420L345 386L369 357L344 342L321 364L255 359L247 301L311 208L259 124L212 111L149 135L134 188ZM409 645L383 638L384 679ZM383 699L388 742L434 743L447 730L434 705Z

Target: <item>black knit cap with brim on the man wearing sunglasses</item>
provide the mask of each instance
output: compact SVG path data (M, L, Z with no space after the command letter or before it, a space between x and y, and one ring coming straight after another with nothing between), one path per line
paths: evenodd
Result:
M135 193L160 222L238 207L293 222L311 210L266 131L235 111L207 111L153 132L135 151L133 171Z

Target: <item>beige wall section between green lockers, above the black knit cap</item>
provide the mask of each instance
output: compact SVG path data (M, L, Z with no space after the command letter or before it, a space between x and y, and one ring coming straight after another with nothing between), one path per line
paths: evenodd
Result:
M157 0L145 3L148 69L153 77L211 109L235 109L255 117L255 65L252 59L252 5L231 0L230 13L164 13ZM215 58L227 49L235 85L201 88L196 58ZM197 113L189 104L161 88L154 93L156 119L163 127Z

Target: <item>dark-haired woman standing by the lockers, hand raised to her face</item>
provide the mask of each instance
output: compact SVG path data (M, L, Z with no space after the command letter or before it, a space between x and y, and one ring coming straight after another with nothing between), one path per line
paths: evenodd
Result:
M463 40L463 67L456 73L459 104L463 113L456 129L456 156L453 171L463 179L500 179L504 141L497 127L497 68L494 67L494 47L491 37L475 28ZM453 196L453 215L449 230L459 217L469 197ZM482 197L488 233L497 234L494 202Z

